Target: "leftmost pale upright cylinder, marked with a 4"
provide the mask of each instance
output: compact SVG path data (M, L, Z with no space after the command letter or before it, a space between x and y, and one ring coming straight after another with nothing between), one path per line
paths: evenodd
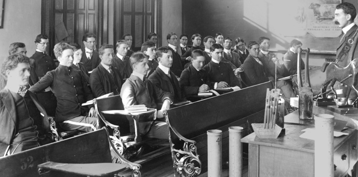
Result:
M208 177L221 176L221 134L222 131L212 129L208 135Z

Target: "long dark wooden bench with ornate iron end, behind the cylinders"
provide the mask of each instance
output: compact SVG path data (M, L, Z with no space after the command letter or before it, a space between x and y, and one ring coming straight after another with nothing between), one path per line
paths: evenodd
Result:
M210 129L222 130L222 162L226 164L228 128L242 126L245 136L251 123L263 121L267 88L273 89L272 82L169 109L166 120L176 176L196 176L207 171L207 130Z

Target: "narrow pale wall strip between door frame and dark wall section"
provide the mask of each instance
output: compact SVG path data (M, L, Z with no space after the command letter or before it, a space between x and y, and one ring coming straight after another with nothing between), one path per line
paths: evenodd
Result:
M182 0L163 0L162 6L162 46L168 46L168 33L182 34Z

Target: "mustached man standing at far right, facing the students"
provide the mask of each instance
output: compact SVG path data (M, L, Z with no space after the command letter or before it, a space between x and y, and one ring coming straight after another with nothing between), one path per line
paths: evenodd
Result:
M358 57L357 35L358 26L353 21L356 17L355 7L350 3L341 3L335 7L334 23L337 24L344 33L337 48L335 62L346 67L354 58ZM344 86L344 93L348 87ZM355 99L355 92L350 92L349 98Z

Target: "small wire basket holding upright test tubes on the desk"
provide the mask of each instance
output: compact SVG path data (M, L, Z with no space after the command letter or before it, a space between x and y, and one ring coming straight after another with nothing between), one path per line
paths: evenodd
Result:
M252 123L251 126L254 128L256 136L261 139L276 139L282 130L277 124L275 124L275 128L271 129L263 128L263 123Z

